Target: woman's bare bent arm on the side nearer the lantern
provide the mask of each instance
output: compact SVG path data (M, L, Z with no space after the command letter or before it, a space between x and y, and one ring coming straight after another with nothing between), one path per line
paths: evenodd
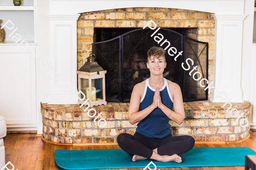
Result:
M141 104L141 99L139 97L139 94L141 92L142 88L139 84L136 84L133 88L133 92L131 93L131 100L129 104L129 111L128 111L128 120L131 125L143 120L143 118L147 117L148 114L150 114L156 107L155 103L153 103L148 106L147 108L143 109L143 111L139 112L139 105ZM156 94L156 92L155 92ZM155 99L154 95L154 99Z

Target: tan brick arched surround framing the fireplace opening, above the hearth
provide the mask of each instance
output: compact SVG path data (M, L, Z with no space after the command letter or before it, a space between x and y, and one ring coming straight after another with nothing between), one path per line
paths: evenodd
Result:
M177 28L187 28L182 32L183 35L209 43L208 80L212 82L214 76L215 27L213 15L209 12L181 10L176 8L136 7L82 13L77 20L78 70L86 62L86 57L89 56L89 53L92 52L94 28L143 28L150 19L154 20L160 28L173 28L174 30ZM152 41L154 40L152 39ZM198 45L198 53L200 53L203 47L203 44ZM204 51L204 53L206 52ZM207 72L206 56L201 55L199 62L203 63L202 68L205 74ZM201 69L198 71L202 73ZM197 99L203 99L205 97L204 88L200 86L199 82L197 82L196 86ZM210 99L211 95L212 91L210 91L208 99Z

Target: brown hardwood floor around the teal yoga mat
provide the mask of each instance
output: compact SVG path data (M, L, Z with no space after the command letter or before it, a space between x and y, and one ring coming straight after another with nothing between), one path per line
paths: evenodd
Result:
M195 145L195 147L249 147L256 151L256 131L253 131L251 137L238 144L210 144ZM9 133L4 138L6 163L13 163L15 169L62 169L55 163L54 155L56 149L64 150L93 150L119 148L118 146L55 146L41 141L40 137L35 137L35 133ZM146 165L145 165L146 167ZM2 168L2 167L0 167ZM9 167L11 169L11 166ZM143 168L123 168L122 170L135 170ZM157 168L160 170L167 169L245 169L239 167L181 167L181 168ZM102 169L103 170L103 169ZM108 169L104 169L108 170ZM118 169L114 169L118 170ZM147 169L148 170L148 169Z

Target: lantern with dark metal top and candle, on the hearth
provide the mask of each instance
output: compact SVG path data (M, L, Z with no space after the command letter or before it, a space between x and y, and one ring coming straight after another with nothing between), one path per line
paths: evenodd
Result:
M106 70L103 70L100 65L94 59L96 56L90 53L87 61L84 65L76 71L79 78L79 91L84 93L85 99L81 93L79 93L79 101L77 104L84 103L89 98L87 103L89 107L94 105L106 104L106 93L105 93L105 74Z

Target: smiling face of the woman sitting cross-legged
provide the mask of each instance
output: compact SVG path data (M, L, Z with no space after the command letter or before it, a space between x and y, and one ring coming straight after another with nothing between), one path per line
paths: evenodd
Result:
M156 59L151 56L150 61L148 61L147 63L147 68L150 69L151 74L163 74L166 65L167 63L164 63L163 57Z

